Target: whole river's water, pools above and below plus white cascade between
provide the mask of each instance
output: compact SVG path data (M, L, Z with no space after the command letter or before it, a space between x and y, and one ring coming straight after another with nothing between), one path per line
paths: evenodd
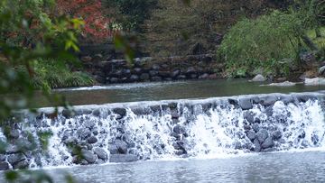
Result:
M34 154L29 167L45 168L55 182L61 182L66 172L77 182L324 181L322 99L304 101L299 95L281 94L246 96L306 91L313 92L307 96L323 96L323 86L261 87L267 83L257 85L245 79L224 82L54 90L54 94L64 94L73 104L83 106L75 108L76 117L62 113L52 120L47 115L49 108L43 108L39 116L23 117L20 128L34 133L35 138L36 133L52 133L46 156ZM268 96L276 96L272 105L240 105L246 98L255 101ZM248 133L263 136L263 130L272 145L260 142L262 147L256 150L257 136L251 139ZM89 148L85 141L94 135L97 142ZM65 145L76 139L89 151L100 148L108 155L116 153L112 146L123 142L123 153L138 161L76 165Z

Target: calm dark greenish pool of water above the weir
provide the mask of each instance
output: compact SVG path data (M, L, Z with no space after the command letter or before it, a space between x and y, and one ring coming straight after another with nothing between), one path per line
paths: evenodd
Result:
M249 82L247 78L232 80L186 80L176 82L132 83L95 87L54 89L52 95L64 95L72 105L101 105L135 101L157 101L166 99L209 98L216 96L238 96L248 94L292 93L324 90L325 85L292 87L263 86L270 82ZM38 95L37 106L51 106ZM42 105L40 105L42 104Z

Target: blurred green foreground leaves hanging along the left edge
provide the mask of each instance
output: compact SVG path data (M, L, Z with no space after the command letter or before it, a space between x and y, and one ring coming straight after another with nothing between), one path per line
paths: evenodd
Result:
M41 2L37 0L28 2L35 3L35 5L41 5L37 4ZM28 14L27 17L24 15L24 9L22 9L23 6L21 6L23 3L23 1L13 1L13 3L9 3L5 0L0 0L0 27L2 33L4 33L3 35L15 34L17 32L17 35L20 35L19 31L21 30L29 33L25 29L31 28L32 21L29 19L30 14ZM38 7L34 8L38 10ZM42 9L42 11L44 11L44 9ZM33 43L35 44L33 50L22 47L16 47L13 49L11 42L8 41L8 37L0 38L0 46L2 50L2 57L0 59L0 95L5 96L4 100L0 101L0 127L8 141L8 134L11 132L11 121L8 119L11 118L12 111L16 109L29 108L32 113L36 112L36 110L31 108L34 87L30 82L33 78L31 67L34 64L35 59L56 57L73 59L73 55L71 55L67 50L70 49L70 47L78 50L78 47L76 46L77 30L79 30L80 24L83 24L77 19L69 19L62 14L58 17L54 17L43 13L37 13L36 15L36 13L32 12L31 16L34 17L32 20L37 20L37 24L40 27L40 32L37 34L38 36L32 38ZM29 24L29 22L31 24ZM54 50L51 47L52 42L56 42L58 46L63 45L63 48L60 50ZM20 66L25 66L25 69L19 69ZM25 75L25 72L28 74ZM57 105L65 106L67 110L71 111L70 105L68 105L64 98L61 99L58 96L49 96L48 89L49 88L46 87L42 88L42 94L44 96L47 96L49 100L56 102ZM15 91L17 96L14 98L6 97L7 94L12 93L13 91ZM55 114L52 115L54 116ZM43 138L49 138L49 135L44 135ZM0 143L0 152L3 153L8 143L2 141ZM23 152L23 150L22 147L19 151ZM43 180L51 182L51 178L42 172L42 170L30 171L25 169L23 171L35 176L34 178L39 182L42 182ZM23 181L22 179L17 179L19 178L19 174L20 172L18 171L5 172L5 176L8 180ZM71 180L70 177L67 178L68 181Z

